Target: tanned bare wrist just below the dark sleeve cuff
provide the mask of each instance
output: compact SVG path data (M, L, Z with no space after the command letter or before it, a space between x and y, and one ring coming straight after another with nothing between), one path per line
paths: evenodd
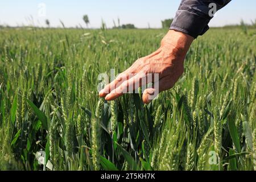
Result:
M161 41L161 48L177 56L185 56L193 39L183 32L169 30Z

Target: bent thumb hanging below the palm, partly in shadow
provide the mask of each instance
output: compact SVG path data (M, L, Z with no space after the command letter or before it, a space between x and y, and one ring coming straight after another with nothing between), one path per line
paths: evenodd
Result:
M175 82L170 77L163 77L158 82L155 82L154 88L144 90L142 100L145 104L149 104L160 92L171 89Z

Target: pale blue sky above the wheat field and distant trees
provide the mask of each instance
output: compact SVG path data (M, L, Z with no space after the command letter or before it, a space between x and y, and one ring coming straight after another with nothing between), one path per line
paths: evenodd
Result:
M41 3L46 5L46 11L42 11ZM160 20L175 16L179 3L180 0L1 0L0 24L45 26L49 19L51 26L57 27L61 19L66 27L85 26L82 15L88 14L92 28L100 27L102 19L107 27L113 27L113 19L117 22L118 17L121 24L133 23L144 28L149 23L150 27L159 28ZM255 8L255 0L233 0L218 11L209 26L236 24L241 19L250 23L256 19Z

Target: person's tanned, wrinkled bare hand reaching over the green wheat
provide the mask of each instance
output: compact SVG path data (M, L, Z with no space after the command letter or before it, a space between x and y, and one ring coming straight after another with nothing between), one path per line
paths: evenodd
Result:
M159 85L158 90L156 88L147 88L143 92L143 102L145 104L150 103L152 94L157 91L160 93L171 89L182 75L185 55L192 41L192 36L170 30L162 39L161 46L157 51L135 61L130 68L106 85L100 91L99 96L105 97L105 100L108 101L114 100L126 93L125 91L129 86L133 86L133 89L138 89L139 86L150 82L149 73L158 73L159 80L154 80ZM147 81L143 82L142 80L145 78Z

